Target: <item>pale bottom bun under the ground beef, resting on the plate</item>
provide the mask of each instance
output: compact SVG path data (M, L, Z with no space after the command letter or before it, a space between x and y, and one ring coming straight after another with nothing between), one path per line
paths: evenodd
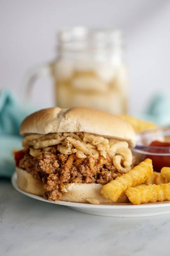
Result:
M41 180L35 179L32 174L18 167L16 167L16 171L18 187L21 190L37 196L44 196L45 189ZM102 187L103 185L95 183L65 184L62 200L77 203L113 204L111 200L100 195ZM129 203L129 200L127 196L123 195L117 203Z

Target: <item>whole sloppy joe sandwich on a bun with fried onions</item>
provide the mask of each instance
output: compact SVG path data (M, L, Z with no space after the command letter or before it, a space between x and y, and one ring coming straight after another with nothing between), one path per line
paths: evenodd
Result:
M134 166L132 126L100 110L42 109L26 117L20 134L18 187L50 201L110 203L100 195L102 186Z

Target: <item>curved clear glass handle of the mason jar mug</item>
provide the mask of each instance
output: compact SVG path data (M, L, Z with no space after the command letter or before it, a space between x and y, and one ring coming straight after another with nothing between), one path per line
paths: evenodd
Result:
M49 63L44 63L39 66L29 68L26 71L26 75L24 76L24 81L23 81L23 89L24 89L24 98L26 100L30 99L31 97L31 92L33 90L33 86L35 85L36 81L41 77L41 76L51 76L53 75L53 67L54 63L49 62Z

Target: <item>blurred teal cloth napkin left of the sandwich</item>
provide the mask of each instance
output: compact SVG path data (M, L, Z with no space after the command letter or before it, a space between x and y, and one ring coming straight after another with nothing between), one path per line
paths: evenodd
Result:
M15 171L13 151L22 148L19 127L35 108L24 108L9 90L0 92L0 177L10 178Z

